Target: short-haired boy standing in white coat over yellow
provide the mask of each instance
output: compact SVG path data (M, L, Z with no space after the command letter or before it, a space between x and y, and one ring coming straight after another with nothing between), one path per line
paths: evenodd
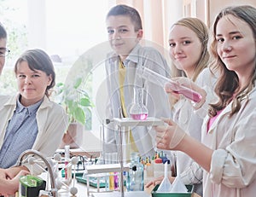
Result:
M124 117L130 116L129 107L136 86L144 90L143 104L148 108L148 117L170 117L170 104L164 87L137 76L139 68L148 67L170 78L170 67L163 55L158 50L142 47L139 43L143 38L143 26L137 10L126 5L117 5L109 10L106 24L113 49L105 61L109 96L107 119L120 118L120 108ZM127 159L129 152L138 152L142 157L154 156L154 136L151 136L154 132L150 132L147 127L131 128L131 149L126 155ZM119 138L112 123L107 125L105 136L106 153L117 152Z

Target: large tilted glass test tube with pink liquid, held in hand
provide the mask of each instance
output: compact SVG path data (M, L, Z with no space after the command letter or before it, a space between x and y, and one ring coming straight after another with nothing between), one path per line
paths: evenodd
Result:
M191 90L183 85L177 84L171 78L166 78L157 72L152 71L148 67L139 68L137 74L146 80L164 87L166 83L170 84L172 90L178 94L182 94L191 101L199 102L201 101L201 95L195 90Z

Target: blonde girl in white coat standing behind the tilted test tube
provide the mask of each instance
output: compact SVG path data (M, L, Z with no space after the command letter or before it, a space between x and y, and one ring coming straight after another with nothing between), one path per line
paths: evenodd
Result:
M186 17L175 22L169 32L169 55L172 58L173 76L187 77L198 84L207 92L207 102L215 99L213 94L217 80L216 71L208 67L209 53L207 50L208 28L205 23L197 18ZM172 92L172 119L189 136L193 136L201 142L201 125L207 112L194 112L194 102L184 96ZM173 101L174 100L174 101ZM194 192L202 195L202 169L187 154L180 151L172 151L173 160L176 161L174 170L184 184L194 185ZM164 177L157 177L146 184L160 184ZM171 183L175 177L169 177Z

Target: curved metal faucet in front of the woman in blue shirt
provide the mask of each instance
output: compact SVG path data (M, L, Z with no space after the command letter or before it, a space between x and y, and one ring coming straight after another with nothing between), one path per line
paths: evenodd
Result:
M20 157L17 161L17 165L22 165L22 160L25 159L26 156L30 154L37 155L40 159L44 161L44 164L47 166L47 170L49 172L49 178L50 178L50 184L51 184L51 191L49 192L51 196L57 197L58 194L57 194L57 189L55 189L54 173L52 171L51 165L49 164L49 161L46 159L46 157L43 154L41 154L37 150L28 149L24 151L22 154L20 154Z

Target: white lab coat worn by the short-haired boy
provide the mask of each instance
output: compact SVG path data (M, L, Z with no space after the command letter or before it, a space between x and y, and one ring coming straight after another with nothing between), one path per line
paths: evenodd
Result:
M129 107L133 100L134 85L143 87L143 102L148 108L148 117L170 117L171 109L168 96L159 85L137 77L138 67L148 67L154 72L163 76L170 77L170 68L166 60L156 49L142 47L139 44L131 51L125 62L125 82L124 95L126 111L129 113ZM105 64L108 84L108 106L106 108L107 119L120 118L120 96L119 96L119 58L115 54L108 55ZM113 128L113 124L106 125L105 151L117 152L118 135ZM132 136L136 142L137 149L141 156L152 156L154 154L154 132L149 132L147 127L131 128ZM152 136L153 135L153 136Z

